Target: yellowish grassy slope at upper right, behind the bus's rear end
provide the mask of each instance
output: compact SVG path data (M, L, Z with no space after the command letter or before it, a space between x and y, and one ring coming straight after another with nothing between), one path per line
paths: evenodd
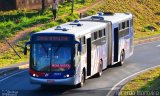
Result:
M131 12L134 15L135 39L160 34L160 25L157 24L160 22L159 0L104 0L103 4L93 10ZM147 26L152 26L156 30L148 29Z

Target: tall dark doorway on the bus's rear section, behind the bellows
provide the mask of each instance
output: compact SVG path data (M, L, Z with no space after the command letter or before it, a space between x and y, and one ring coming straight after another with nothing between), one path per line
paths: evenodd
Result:
M118 62L118 51L119 51L119 29L114 28L114 62Z

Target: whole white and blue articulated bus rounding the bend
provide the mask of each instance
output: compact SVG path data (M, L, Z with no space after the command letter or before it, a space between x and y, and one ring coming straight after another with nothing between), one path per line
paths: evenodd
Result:
M81 87L133 54L133 15L100 12L33 33L24 54L27 45L31 83Z

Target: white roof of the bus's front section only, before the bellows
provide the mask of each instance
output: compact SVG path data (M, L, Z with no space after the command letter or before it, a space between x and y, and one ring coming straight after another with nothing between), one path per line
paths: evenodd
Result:
M81 25L78 25L78 24L81 24ZM104 29L106 25L107 23L104 23L104 22L86 22L86 21L79 21L78 23L68 22L60 26L57 26L61 28L53 27L40 32L36 32L34 34L59 33L59 34L74 34L75 37L80 37L80 36L83 36L84 34L87 34L93 31L98 31L102 28Z

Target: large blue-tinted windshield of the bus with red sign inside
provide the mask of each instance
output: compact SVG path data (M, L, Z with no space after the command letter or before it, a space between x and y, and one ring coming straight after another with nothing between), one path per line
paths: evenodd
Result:
M71 46L64 43L32 45L31 67L36 71L67 71L71 68Z

